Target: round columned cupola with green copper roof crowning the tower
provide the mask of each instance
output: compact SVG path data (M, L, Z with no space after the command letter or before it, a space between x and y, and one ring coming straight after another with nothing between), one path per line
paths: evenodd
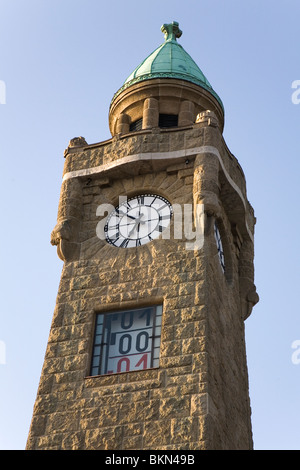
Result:
M113 96L109 110L111 134L189 126L203 111L215 114L222 131L222 101L177 42L182 35L179 24L164 24L161 31L164 43L135 68Z

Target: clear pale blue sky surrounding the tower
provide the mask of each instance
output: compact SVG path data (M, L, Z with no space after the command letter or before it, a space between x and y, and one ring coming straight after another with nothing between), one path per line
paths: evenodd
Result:
M113 94L174 20L224 103L257 217L254 445L300 448L299 17L297 0L0 0L0 449L24 449L30 426L62 269L50 233L63 151L110 137Z

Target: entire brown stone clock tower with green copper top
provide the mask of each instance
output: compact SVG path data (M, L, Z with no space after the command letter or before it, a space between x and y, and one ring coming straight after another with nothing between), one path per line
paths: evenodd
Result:
M65 151L28 449L252 448L254 212L219 96L178 23L161 29L112 99L112 138Z

